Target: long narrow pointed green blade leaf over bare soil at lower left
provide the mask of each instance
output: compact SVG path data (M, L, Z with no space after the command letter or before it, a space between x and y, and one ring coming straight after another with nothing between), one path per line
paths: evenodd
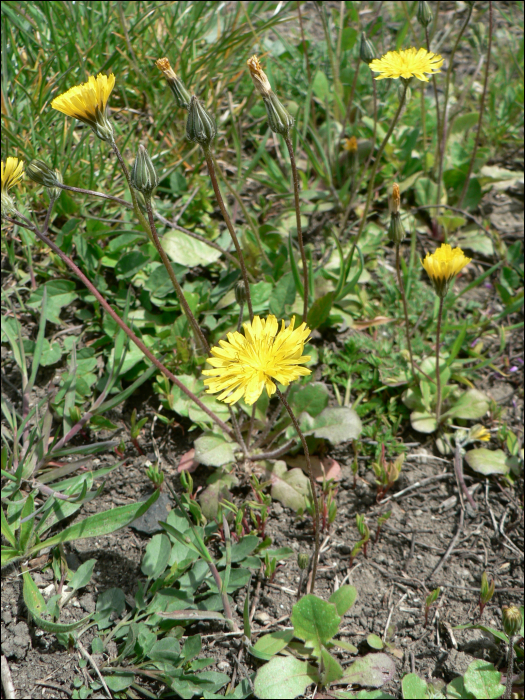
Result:
M104 511L103 513L90 515L79 523L75 523L65 530L62 530L62 532L53 535L53 537L34 545L34 547L31 548L31 554L35 554L45 547L53 547L63 542L109 535L110 532L115 532L115 530L126 527L155 503L159 497L159 493L160 491L155 489L147 501L132 503L129 506L120 506L112 510Z

